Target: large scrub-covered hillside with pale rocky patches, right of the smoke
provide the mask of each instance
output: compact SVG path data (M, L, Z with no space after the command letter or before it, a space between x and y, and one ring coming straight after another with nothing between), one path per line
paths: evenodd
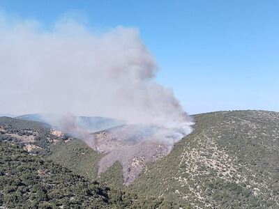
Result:
M279 208L279 114L220 111L195 122L130 189L194 208Z

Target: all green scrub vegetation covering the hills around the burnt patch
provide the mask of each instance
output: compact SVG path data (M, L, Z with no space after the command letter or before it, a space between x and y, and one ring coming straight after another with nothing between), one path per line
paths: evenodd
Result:
M7 122L10 119L0 118L0 141L6 141L1 143L0 188L14 188L1 189L0 204L8 208L15 203L19 208L27 203L53 208L91 207L90 204L98 208L186 208L188 203L193 208L279 208L279 113L220 111L194 118L195 130L179 141L169 155L148 164L129 187L122 185L118 162L98 176L98 161L103 155L83 141L57 139L40 123L27 127L24 121L15 124L14 119ZM40 144L41 150L27 153L22 150L25 142L11 134L27 136L30 130L36 132L31 144L47 142ZM11 142L17 144L16 148ZM50 171L50 177L38 173L44 169ZM8 172L13 176L6 175ZM27 184L27 180L31 183ZM42 189L32 190L33 185L43 188L47 200ZM80 193L81 187L91 192Z

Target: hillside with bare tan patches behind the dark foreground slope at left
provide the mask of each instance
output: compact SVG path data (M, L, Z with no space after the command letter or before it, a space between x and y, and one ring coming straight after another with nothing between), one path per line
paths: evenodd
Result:
M13 142L32 155L41 155L91 180L98 178L98 162L103 155L89 148L80 139L60 134L61 132L45 123L0 117L0 141ZM113 173L113 170L114 166L108 174ZM113 175L114 178L110 179L117 182L117 186L121 186L121 171L118 173L118 178ZM107 182L107 178L99 180Z

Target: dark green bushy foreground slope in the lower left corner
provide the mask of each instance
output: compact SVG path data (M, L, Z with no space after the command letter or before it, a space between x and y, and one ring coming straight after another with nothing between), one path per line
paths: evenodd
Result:
M169 208L171 201L139 197L75 175L16 144L0 141L0 207Z

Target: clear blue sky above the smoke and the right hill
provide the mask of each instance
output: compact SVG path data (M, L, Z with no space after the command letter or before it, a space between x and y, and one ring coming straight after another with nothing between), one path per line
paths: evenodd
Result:
M190 114L279 111L279 1L0 0L0 10L45 26L67 14L98 30L136 27L158 82Z

